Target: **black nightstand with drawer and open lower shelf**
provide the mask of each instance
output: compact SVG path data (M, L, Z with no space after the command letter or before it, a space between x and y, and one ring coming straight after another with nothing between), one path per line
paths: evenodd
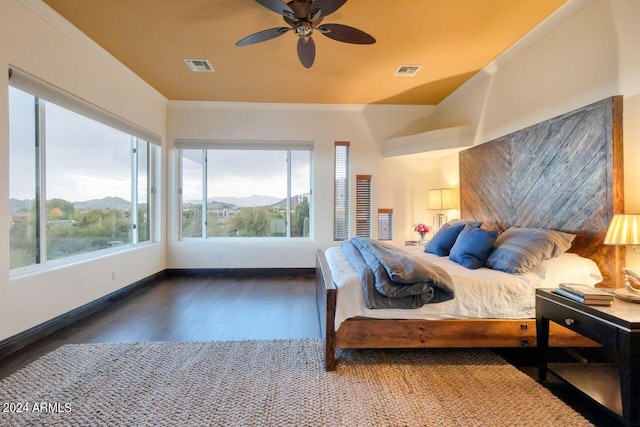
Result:
M548 363L550 321L612 349L617 363ZM551 372L627 425L640 425L639 304L614 299L610 307L584 305L551 289L537 289L536 335L541 382Z

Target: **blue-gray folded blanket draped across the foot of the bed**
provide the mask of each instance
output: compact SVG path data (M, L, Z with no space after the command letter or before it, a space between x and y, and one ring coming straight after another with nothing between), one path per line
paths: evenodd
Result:
M342 250L360 275L367 308L419 308L453 298L449 274L422 253L408 257L395 246L361 237L342 242Z

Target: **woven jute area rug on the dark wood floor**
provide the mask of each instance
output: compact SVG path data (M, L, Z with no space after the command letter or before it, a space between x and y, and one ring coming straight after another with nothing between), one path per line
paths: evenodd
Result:
M0 425L584 426L488 350L320 340L65 345L0 382Z

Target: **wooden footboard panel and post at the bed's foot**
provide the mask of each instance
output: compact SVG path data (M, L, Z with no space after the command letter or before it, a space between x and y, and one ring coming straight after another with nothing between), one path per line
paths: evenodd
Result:
M320 333L324 339L324 364L327 371L336 369L336 296L337 289L331 277L322 249L316 251L316 303L320 317Z

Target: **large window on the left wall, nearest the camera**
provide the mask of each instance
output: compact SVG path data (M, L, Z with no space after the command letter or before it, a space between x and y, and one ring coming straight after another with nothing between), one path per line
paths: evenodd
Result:
M151 144L38 95L9 87L11 268L151 240Z

